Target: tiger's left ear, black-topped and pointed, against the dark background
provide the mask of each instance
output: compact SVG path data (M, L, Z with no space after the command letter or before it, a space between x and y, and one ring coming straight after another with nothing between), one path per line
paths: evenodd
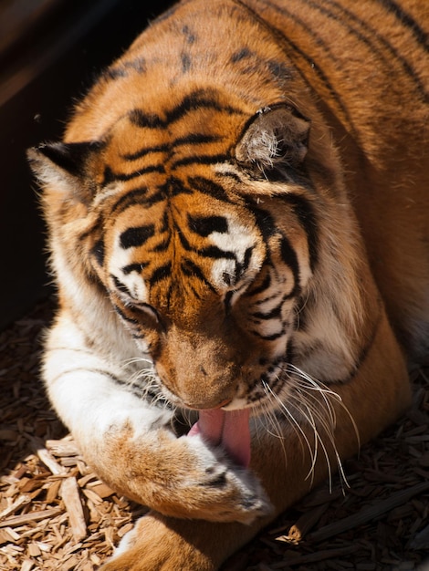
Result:
M87 202L95 187L89 171L99 154L100 143L44 143L27 151L38 182L77 200Z

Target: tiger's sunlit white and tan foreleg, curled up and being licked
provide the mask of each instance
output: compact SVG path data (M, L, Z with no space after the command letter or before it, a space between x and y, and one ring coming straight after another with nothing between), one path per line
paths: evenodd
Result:
M47 340L47 391L85 459L131 499L177 517L248 523L271 506L252 472L200 436L177 438L173 411L120 382L123 369L85 343L63 313Z

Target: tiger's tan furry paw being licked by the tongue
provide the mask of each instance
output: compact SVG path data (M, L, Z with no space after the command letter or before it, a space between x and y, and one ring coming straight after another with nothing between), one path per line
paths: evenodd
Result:
M158 430L136 435L126 427L103 438L97 457L90 459L91 451L85 452L101 479L160 514L251 524L272 512L255 474L200 434L176 438Z

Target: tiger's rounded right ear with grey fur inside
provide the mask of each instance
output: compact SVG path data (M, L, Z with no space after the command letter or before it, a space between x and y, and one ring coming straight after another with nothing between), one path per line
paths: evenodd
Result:
M260 109L246 125L235 158L261 171L296 168L308 151L309 119L288 105Z

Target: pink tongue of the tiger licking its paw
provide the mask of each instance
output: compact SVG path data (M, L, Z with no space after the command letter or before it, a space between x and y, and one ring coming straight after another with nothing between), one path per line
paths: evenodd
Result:
M222 444L226 452L245 468L250 463L249 410L200 410L200 419L188 436L202 434L214 446Z

